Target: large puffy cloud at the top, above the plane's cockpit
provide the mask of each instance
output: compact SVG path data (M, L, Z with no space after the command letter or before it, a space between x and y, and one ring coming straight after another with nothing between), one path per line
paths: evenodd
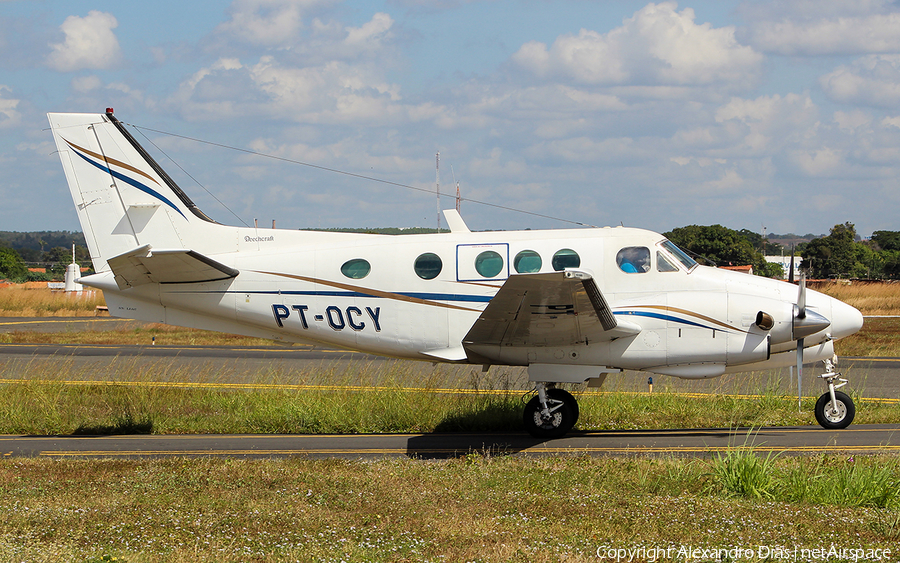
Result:
M582 29L550 47L523 45L513 62L539 77L591 85L746 85L760 72L762 55L735 39L732 26L695 23L691 8L648 4L609 33Z

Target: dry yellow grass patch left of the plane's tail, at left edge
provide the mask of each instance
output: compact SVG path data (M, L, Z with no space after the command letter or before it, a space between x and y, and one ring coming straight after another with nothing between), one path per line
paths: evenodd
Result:
M90 317L96 314L98 306L105 305L101 291L0 288L0 317Z

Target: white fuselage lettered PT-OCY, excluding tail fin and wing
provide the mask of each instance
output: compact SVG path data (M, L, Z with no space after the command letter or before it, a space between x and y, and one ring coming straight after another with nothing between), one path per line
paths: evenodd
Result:
M554 255L571 250L578 268L593 274L616 317L639 325L640 334L568 346L508 346L488 354L478 350L480 357L496 364L606 366L681 377L794 361L784 352L796 349L791 339L796 286L699 265L688 271L660 246L665 239L650 231L616 227L392 236L210 228L228 229L227 236L219 231L210 241L227 251L206 252L240 275L124 292L107 285L111 313L398 358L466 361L462 341L503 282L516 275L515 257L532 251L540 256L538 271L552 272ZM646 272L616 267L617 253L632 247L650 250ZM502 258L500 271L490 277L475 267L485 251ZM422 279L415 270L416 259L426 253L441 261L433 279ZM661 268L660 256L675 268ZM364 277L342 273L342 266L354 260L369 265ZM827 330L806 339L807 357L830 357L831 340L857 331L861 316L821 293L808 292L807 302L831 320ZM759 311L774 318L771 330L754 327ZM552 330L553 319L545 322Z

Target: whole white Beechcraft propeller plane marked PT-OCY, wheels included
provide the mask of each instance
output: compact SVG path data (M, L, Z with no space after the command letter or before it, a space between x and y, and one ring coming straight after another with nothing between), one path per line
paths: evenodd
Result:
M830 360L862 315L786 282L697 264L624 227L369 235L221 225L116 119L48 115L95 274L118 317L315 342L373 354L527 366L526 429L564 435L578 404L561 383L643 370L717 377ZM826 366L830 364L826 362ZM827 370L826 428L855 410ZM837 383L836 383L837 382Z

